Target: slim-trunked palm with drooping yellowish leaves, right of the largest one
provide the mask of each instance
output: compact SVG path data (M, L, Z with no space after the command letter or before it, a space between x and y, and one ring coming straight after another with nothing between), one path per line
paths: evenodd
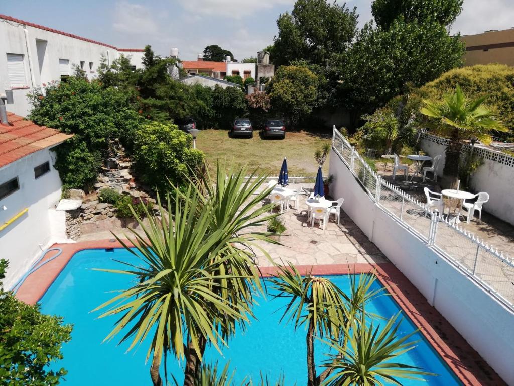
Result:
M280 267L277 276L271 282L279 292L276 297L287 297L281 321L287 318L295 329L307 325L307 385L319 386L332 372L327 369L319 376L316 374L314 361L315 339L342 339L344 328L351 328L355 315L363 305L375 297L381 290L370 290L375 280L374 275L361 275L359 282L355 276L352 280L352 293L346 295L326 277L306 275L302 277L298 270L289 263Z

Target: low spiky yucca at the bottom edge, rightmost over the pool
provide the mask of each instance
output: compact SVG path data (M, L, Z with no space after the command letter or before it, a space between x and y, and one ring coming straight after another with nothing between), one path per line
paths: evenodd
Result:
M383 386L386 383L401 386L398 378L424 381L420 375L436 375L394 361L417 343L411 340L417 330L398 338L398 317L399 313L379 328L367 322L362 312L359 323L353 328L344 327L343 344L336 339L328 342L336 353L324 364L333 373L323 386Z

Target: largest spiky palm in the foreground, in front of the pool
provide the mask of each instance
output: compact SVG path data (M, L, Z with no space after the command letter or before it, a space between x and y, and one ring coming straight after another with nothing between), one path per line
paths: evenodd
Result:
M265 215L270 205L260 206L269 194L257 191L265 176L245 176L246 168L227 172L218 165L207 194L193 184L185 193L175 189L174 215L166 215L160 200L163 216L147 213L148 225L133 211L144 233L131 230L135 248L116 237L140 261L106 271L132 275L136 284L97 309L110 307L100 317L121 315L106 340L123 330L120 342L131 340L129 350L149 343L146 359L152 357L155 386L162 385L163 358L167 374L169 353L186 360L184 385L193 386L206 345L221 350L236 325L244 327L253 316L253 294L262 288L252 248L255 240L274 241L249 227L274 215ZM167 202L171 208L170 195Z

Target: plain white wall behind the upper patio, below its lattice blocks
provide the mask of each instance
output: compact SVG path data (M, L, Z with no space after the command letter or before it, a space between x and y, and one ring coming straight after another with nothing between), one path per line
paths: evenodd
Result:
M445 166L445 145L421 138L420 147L432 158L441 155L437 175L443 176ZM475 150L476 151L476 150ZM489 202L484 210L504 221L514 224L514 167L493 160L484 159L484 164L472 174L469 180L472 191L489 193ZM476 213L478 215L478 213ZM508 251L505 251L508 252Z

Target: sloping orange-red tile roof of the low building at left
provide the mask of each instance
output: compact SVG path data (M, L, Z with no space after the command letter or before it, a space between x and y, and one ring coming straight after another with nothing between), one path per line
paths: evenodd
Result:
M0 124L0 168L36 151L58 145L73 135L34 124L7 113L9 125Z

